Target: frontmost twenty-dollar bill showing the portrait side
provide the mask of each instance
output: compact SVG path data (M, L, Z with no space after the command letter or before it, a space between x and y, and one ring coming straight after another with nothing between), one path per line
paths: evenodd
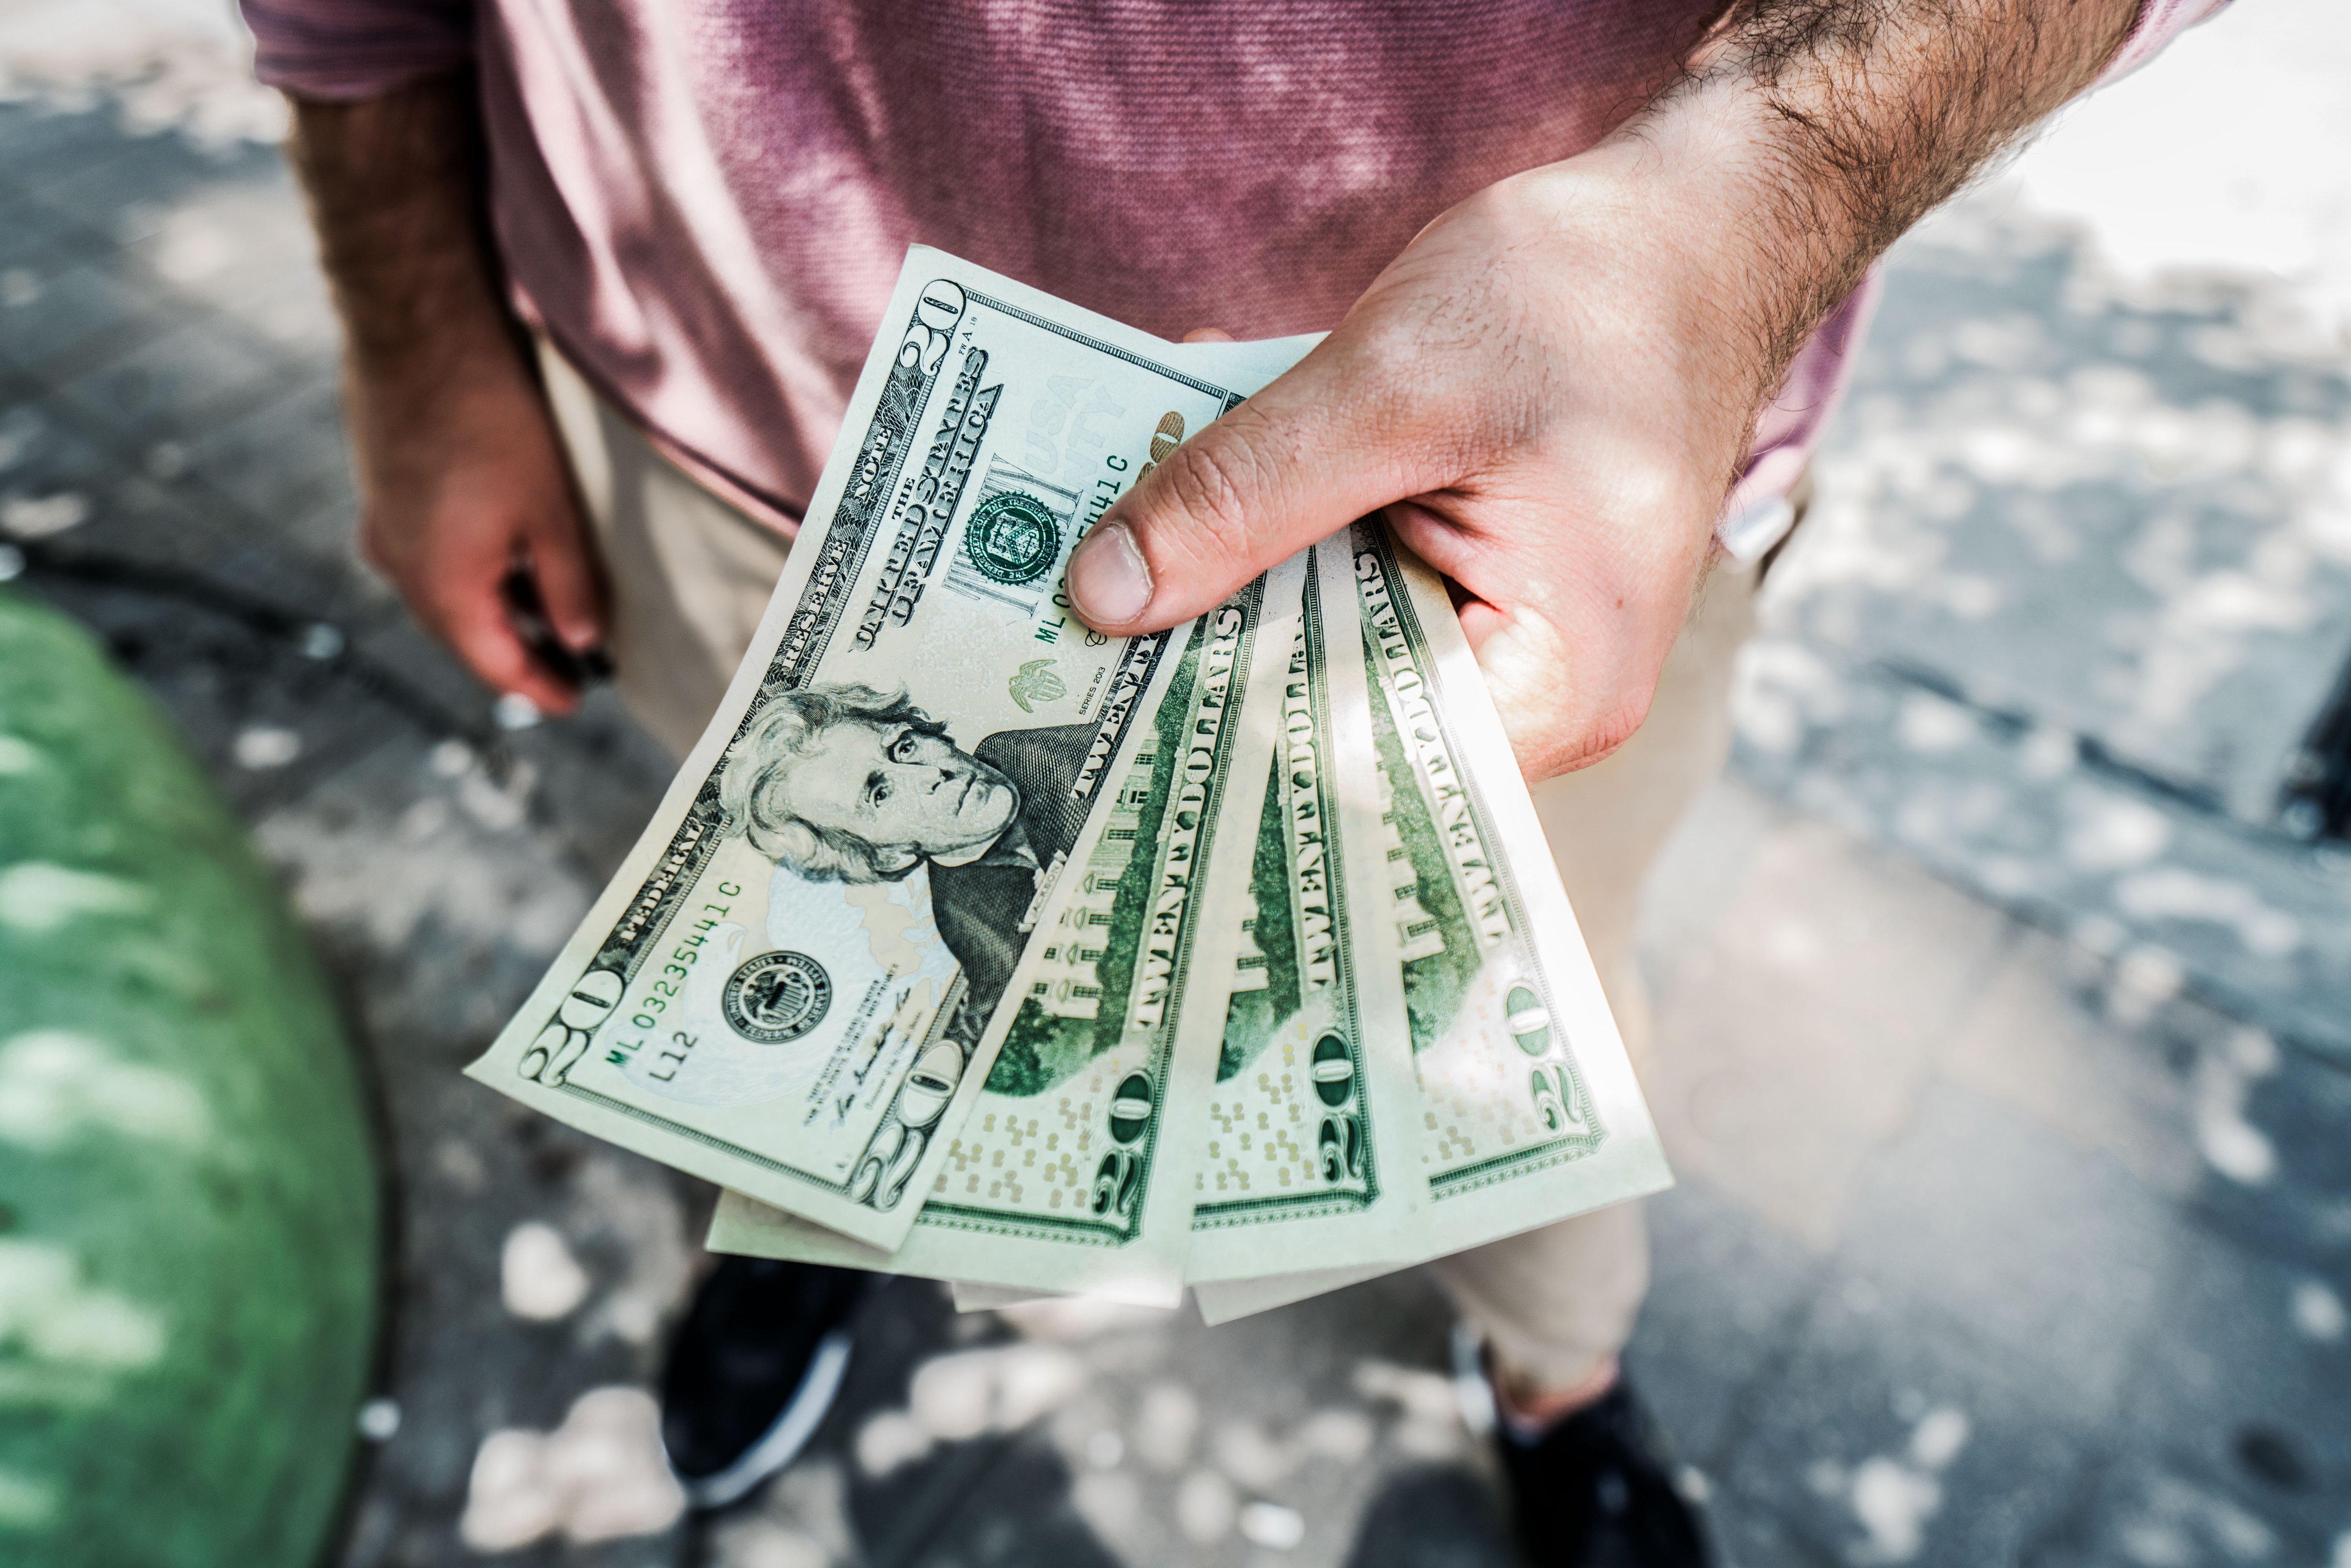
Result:
M1070 548L1302 350L1218 348L910 252L717 717L468 1074L896 1248L1190 635L1089 632Z

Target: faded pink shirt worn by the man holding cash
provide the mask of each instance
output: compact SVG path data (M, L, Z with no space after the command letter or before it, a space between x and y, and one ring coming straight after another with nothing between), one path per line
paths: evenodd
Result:
M2224 0L2146 0L2111 75ZM778 527L910 242L1147 331L1328 329L1432 216L1599 141L1723 0L245 0L266 82L475 63L524 313ZM1794 482L1867 317L1789 371ZM1737 505L1733 508L1737 510Z

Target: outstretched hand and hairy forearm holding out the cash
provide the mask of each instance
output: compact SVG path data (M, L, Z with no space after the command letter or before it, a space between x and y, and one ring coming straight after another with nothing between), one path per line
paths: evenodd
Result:
M1751 0L1580 158L1429 223L1070 564L1185 621L1366 512L1453 578L1528 778L1639 729L1754 421L1813 324L2088 85L2137 0Z

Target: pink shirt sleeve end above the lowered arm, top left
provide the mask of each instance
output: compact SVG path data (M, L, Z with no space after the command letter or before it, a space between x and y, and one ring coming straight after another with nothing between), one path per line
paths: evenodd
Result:
M473 0L240 0L254 75L301 99L374 99L473 63Z

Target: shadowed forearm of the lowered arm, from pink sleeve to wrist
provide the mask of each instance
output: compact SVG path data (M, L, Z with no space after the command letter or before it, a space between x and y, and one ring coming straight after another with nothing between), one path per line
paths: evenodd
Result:
M470 73L357 103L296 101L287 153L357 388L433 395L515 362Z

